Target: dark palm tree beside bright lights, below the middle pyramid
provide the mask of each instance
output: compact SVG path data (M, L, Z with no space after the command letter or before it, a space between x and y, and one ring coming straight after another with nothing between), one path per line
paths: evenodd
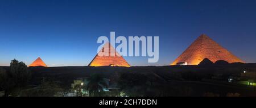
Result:
M89 96L100 96L100 92L104 88L108 88L108 84L100 74L92 74L87 81L86 89L89 92Z

